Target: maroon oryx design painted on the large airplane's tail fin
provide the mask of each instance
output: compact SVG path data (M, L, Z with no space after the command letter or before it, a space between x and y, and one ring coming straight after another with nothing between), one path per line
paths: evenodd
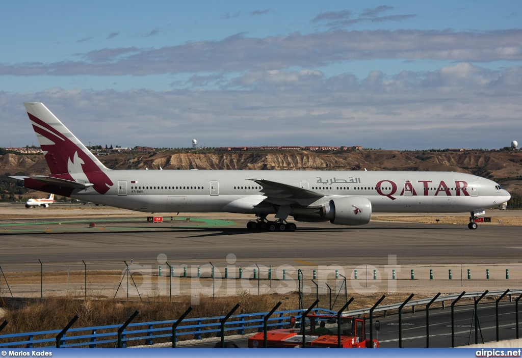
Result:
M93 184L93 189L100 194L105 194L113 182L109 177L100 170L98 165L82 151L75 143L65 137L64 134L58 132L52 126L44 121L28 113L29 119L33 122L33 129L36 133L47 138L51 144L42 144L42 151L45 154L45 160L51 170L51 175L58 178L73 180L75 178L69 172L70 163L80 164L78 174L83 174L87 180ZM81 170L79 170L81 169ZM75 173L73 173L75 174Z

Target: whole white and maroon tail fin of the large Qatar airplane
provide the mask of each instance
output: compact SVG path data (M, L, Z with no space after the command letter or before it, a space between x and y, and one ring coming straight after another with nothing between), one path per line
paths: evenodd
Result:
M51 176L79 183L92 183L104 194L113 185L108 171L78 138L43 103L24 103Z

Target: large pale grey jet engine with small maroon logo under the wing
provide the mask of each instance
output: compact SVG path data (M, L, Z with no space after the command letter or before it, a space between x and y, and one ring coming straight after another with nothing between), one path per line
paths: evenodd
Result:
M325 218L336 225L365 225L372 216L372 203L362 196L343 196L324 207Z

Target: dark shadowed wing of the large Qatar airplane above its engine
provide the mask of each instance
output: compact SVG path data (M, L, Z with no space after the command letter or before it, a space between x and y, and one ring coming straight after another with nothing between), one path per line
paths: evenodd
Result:
M261 192L267 197L265 202L276 205L302 204L303 200L317 200L324 197L324 194L310 191L307 189L294 187L289 184L279 183L266 179L248 179L258 183L263 187Z

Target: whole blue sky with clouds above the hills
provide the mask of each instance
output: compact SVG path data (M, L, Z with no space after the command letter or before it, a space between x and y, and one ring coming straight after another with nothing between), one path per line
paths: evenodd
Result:
M5 2L0 146L522 141L522 2Z

